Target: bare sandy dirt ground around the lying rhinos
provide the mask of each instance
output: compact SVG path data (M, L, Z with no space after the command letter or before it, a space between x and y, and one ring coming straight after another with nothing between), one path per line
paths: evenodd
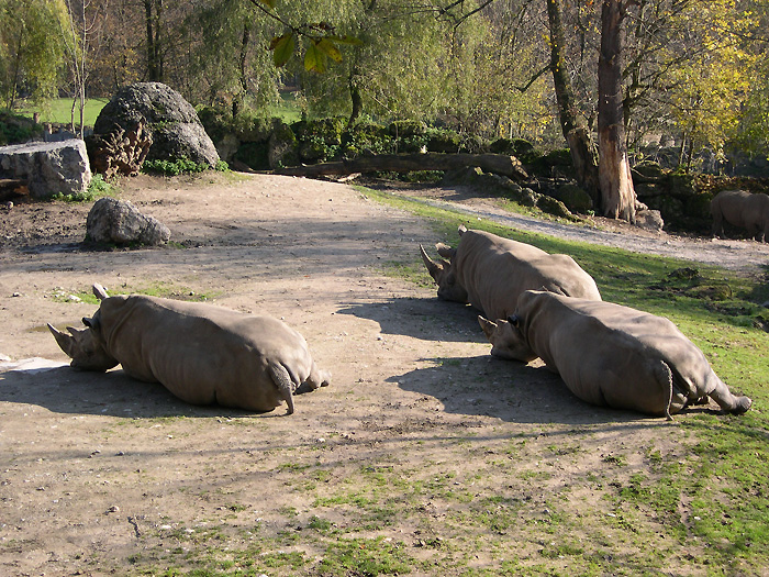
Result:
M466 207L456 196L442 200ZM384 263L436 242L427 223L346 185L277 176L142 176L120 198L168 225L175 245L83 249L90 204L0 209L0 574L170 575L212 563L336 574L324 563L339 542L392 551L412 575L513 562L571 573L568 557L543 553L564 501L594 521L573 539L603 542L610 566L635 554L605 523L617 511L595 471L615 455L623 467L610 475L622 482L650 451L684 451L676 422L587 406L537 364L491 358L469 308L387 277ZM731 241L638 237L683 257L715 247L736 268L769 257L757 243L737 255ZM119 369L76 373L45 324L91 315L77 295L93 282L281 318L332 385L299 396L291 417L249 415L185 404ZM505 508L501 529L481 521ZM655 542L653 518L639 522L670 567L702 569L696 544L671 548Z

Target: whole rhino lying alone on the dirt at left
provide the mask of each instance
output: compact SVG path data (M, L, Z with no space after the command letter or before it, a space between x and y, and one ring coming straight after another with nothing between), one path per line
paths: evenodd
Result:
M131 377L160 382L192 404L271 411L293 392L328 385L310 356L304 337L271 317L143 296L108 297L85 330L70 334L48 324L71 366L108 370L118 364Z

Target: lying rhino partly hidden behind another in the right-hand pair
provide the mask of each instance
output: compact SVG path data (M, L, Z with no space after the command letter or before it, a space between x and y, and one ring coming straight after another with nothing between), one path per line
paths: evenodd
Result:
M420 245L427 271L438 285L438 297L469 302L489 319L506 319L519 296L528 289L601 300L595 280L567 255L545 251L459 225L459 246L437 244L449 260L433 262Z

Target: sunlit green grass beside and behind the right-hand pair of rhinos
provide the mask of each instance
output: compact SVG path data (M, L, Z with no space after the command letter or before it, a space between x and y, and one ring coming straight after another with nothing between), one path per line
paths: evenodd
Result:
M456 228L467 220L466 215L390 195L363 192L427 219L436 241L455 246L458 243ZM661 522L668 547L686 548L695 540L701 547L698 563L710 567L710 575L760 573L769 565L769 418L761 410L769 401L769 336L762 329L769 313L761 304L769 300L767 274L746 276L676 258L543 236L488 221L473 221L472 228L550 253L570 254L597 279L604 300L669 318L702 348L724 381L754 399L754 409L742 417L701 414L681 419L676 434L691 439L682 448L688 456L648 450L648 471L631 475L624 482L610 481L606 499L620 511L611 522L627 532L631 541L649 531L646 518L653 517ZM427 278L426 271L422 278L416 273L416 251L413 258L390 268L405 281L421 285ZM622 452L606 454L602 462L602 469L591 473L601 486L629 468ZM537 471L522 476L533 480ZM691 512L686 517L678 510L681 499L690 501ZM591 521L586 519L584 523ZM576 529L564 526L568 524L561 524L560 530ZM599 534L594 528L591 532ZM670 553L638 546L642 553L637 556L645 561L629 563L628 567L662 566L664 556ZM584 564L576 563L573 567L586 573L597 566L604 570L621 566L568 543L545 546L542 554L549 558L580 556Z

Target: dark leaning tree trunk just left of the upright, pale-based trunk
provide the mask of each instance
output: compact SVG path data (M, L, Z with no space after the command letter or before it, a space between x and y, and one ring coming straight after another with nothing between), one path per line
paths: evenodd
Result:
M600 206L598 153L584 119L576 104L571 79L564 63L564 25L560 20L559 0L547 1L547 19L550 29L550 71L556 89L556 100L560 118L560 127L569 145L571 162L577 171L577 181L593 199L593 206Z

